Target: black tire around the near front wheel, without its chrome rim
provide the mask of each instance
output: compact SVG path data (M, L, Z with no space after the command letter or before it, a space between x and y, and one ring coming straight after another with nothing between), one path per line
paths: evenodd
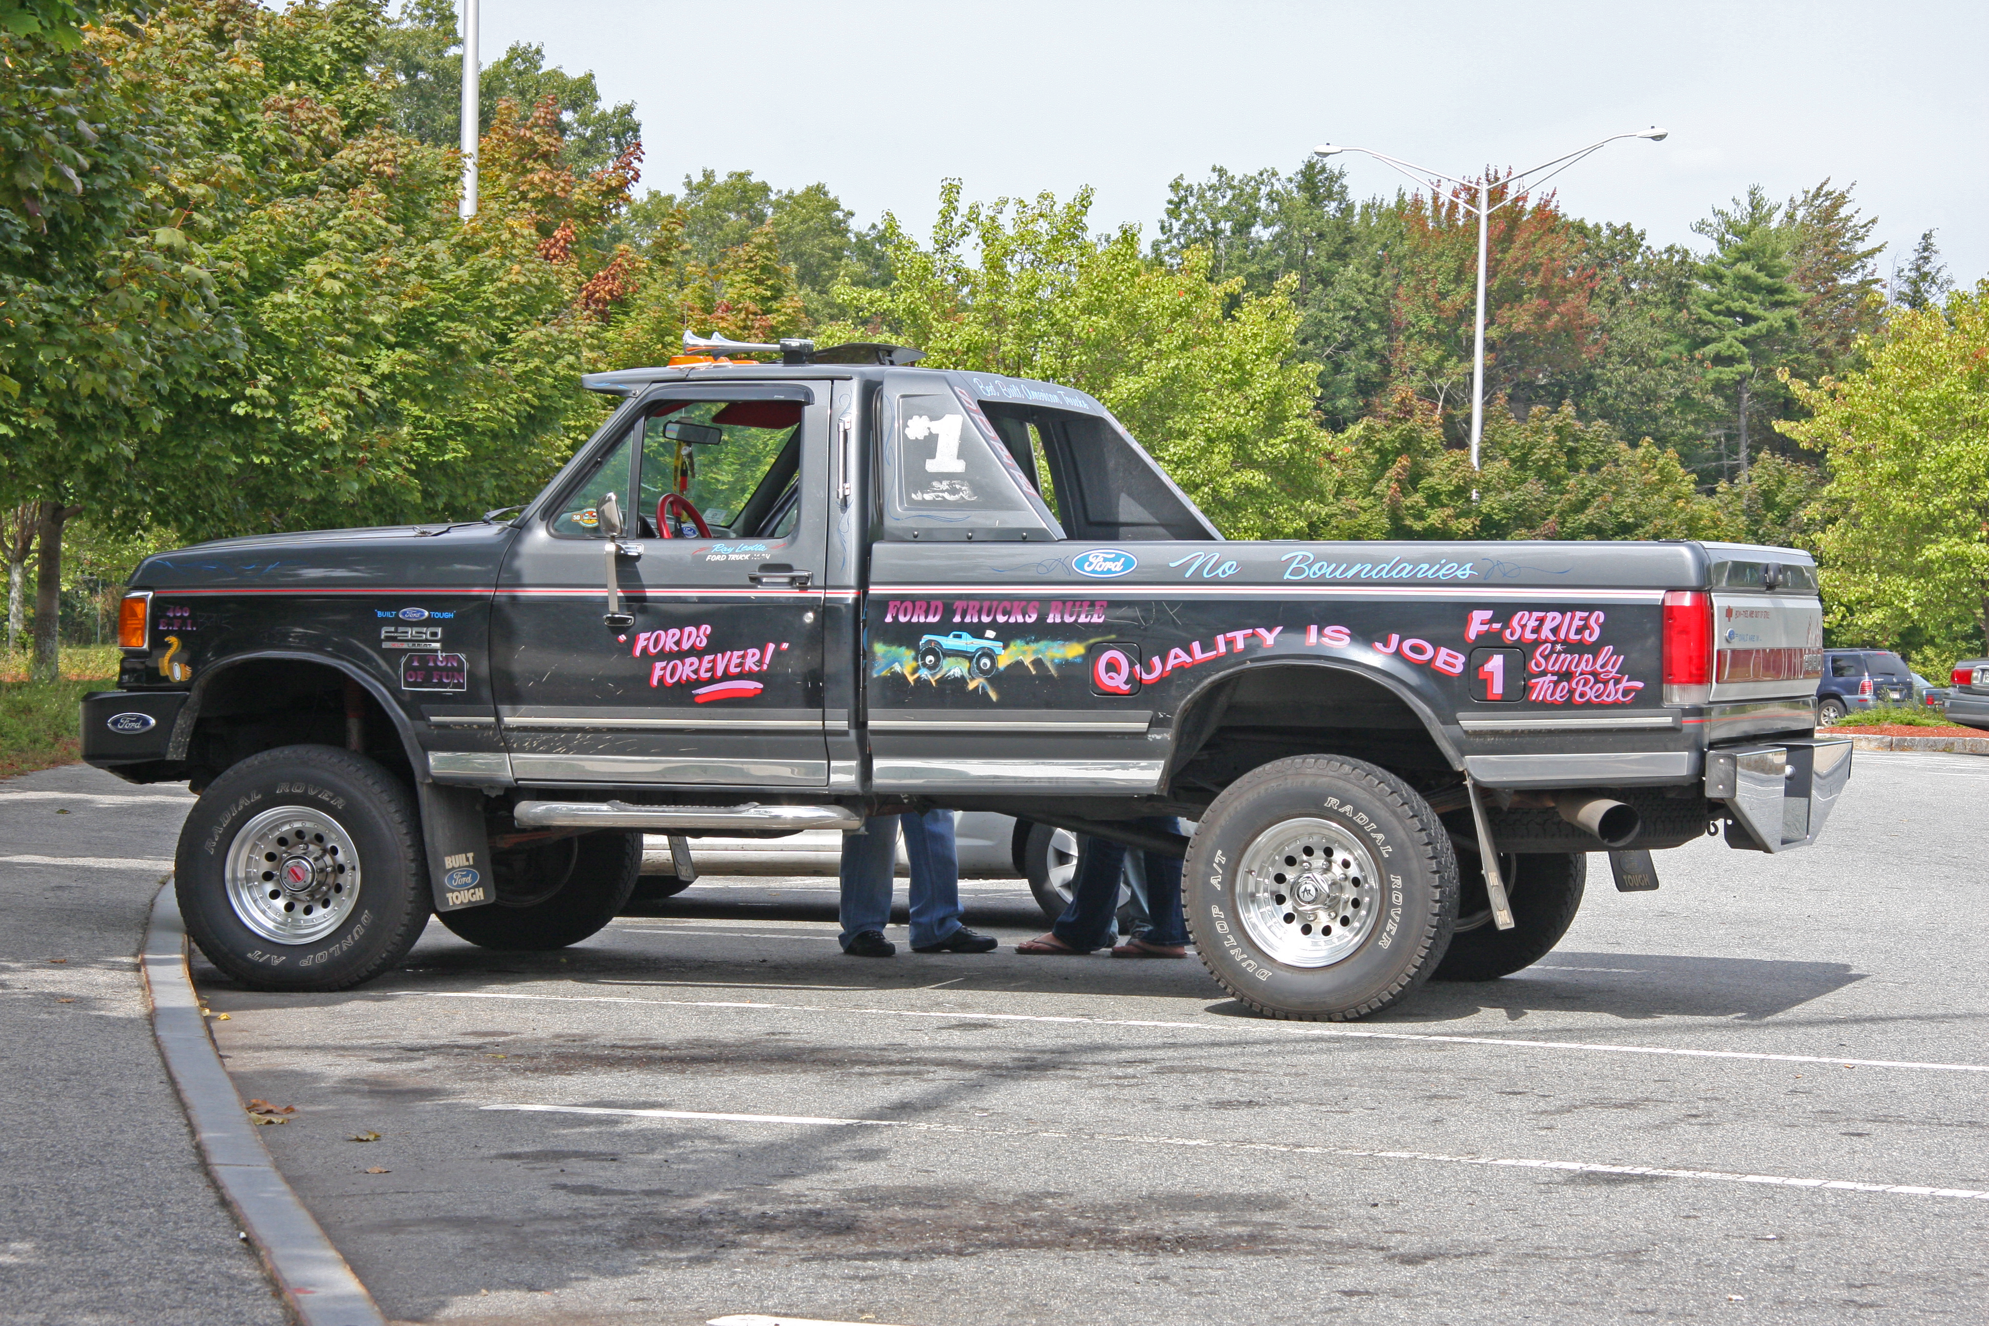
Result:
M269 811L298 807L350 839L350 914L308 942L257 934L231 901L229 857ZM384 765L332 746L280 746L227 767L179 831L173 893L207 960L251 990L346 990L398 964L430 912L414 793Z

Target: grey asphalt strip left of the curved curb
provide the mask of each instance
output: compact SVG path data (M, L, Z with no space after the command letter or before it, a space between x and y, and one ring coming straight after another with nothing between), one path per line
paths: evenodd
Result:
M151 1038L139 938L193 797L0 781L0 1322L276 1324Z

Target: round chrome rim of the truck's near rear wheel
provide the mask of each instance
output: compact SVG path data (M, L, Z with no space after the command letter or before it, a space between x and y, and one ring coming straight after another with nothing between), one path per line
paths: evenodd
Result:
M1333 966L1358 952L1380 911L1380 869L1331 819L1287 819L1237 861L1243 932L1285 966Z

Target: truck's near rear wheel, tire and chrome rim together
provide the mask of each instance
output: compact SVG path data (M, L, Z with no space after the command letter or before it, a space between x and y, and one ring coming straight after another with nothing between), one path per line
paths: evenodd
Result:
M1201 817L1181 887L1195 952L1275 1018L1380 1012L1442 960L1458 859L1430 803L1362 759L1251 769Z

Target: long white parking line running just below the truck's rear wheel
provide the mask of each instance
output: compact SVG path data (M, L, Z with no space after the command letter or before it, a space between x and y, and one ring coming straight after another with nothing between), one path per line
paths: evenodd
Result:
M650 982L664 984L664 982ZM682 982L690 986L718 988L716 982ZM754 986L760 990L819 990L819 988L843 988L843 986ZM1074 1016L1050 1016L1050 1014L993 1014L969 1008L947 1008L947 1010L923 1010L923 1008L829 1008L825 1004L756 1004L756 1002L724 1002L724 1000L636 1000L615 994L509 994L497 990L408 990L406 994L392 994L388 998L428 998L428 1000L547 1000L555 1004L656 1004L662 1008L734 1008L750 1012L810 1012L810 1014L841 1014L853 1018L949 1018L959 1022L963 1018L973 1018L979 1022L1054 1022L1072 1026L1140 1026L1140 1028L1177 1028L1189 1032L1215 1032L1229 1030L1219 1028L1215 1022L1162 1022L1158 1018L1074 1018ZM1842 1068L1911 1068L1937 1074L1989 1074L1989 1064L1919 1064L1913 1060L1840 1060L1818 1054L1756 1054L1750 1050L1677 1050L1671 1046L1597 1046L1575 1040L1512 1040L1506 1036L1440 1036L1428 1032L1356 1032L1353 1028L1325 1028L1325 1026L1265 1026L1263 1034L1271 1036L1325 1036L1343 1040L1398 1040L1398 1042L1426 1042L1442 1046L1476 1046L1494 1050L1575 1050L1583 1054L1659 1054L1659 1056L1679 1056L1691 1060L1748 1060L1762 1064L1836 1064Z

